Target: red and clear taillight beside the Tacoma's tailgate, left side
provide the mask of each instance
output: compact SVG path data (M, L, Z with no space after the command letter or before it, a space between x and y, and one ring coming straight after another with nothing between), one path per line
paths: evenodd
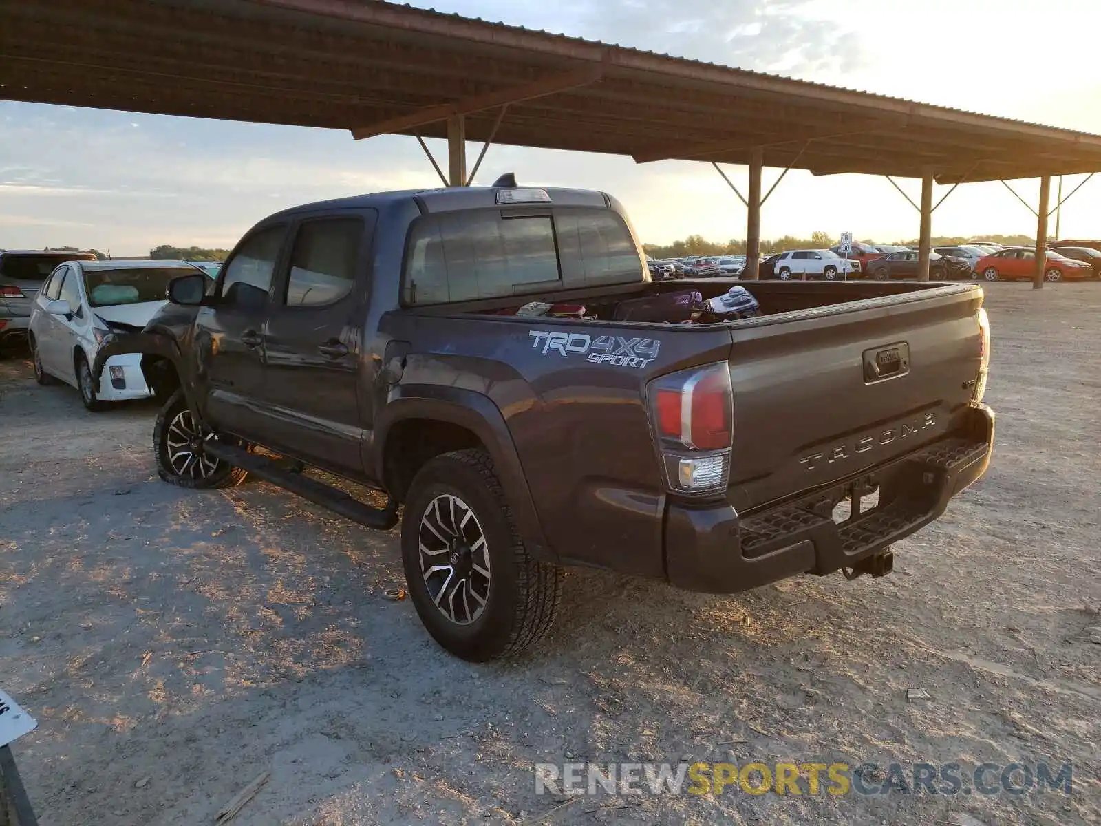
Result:
M671 490L724 490L734 417L727 362L655 379L647 388L647 398Z

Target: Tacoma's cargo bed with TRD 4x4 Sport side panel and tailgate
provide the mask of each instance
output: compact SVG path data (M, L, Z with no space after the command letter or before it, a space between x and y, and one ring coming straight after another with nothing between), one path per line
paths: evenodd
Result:
M662 523L674 497L661 483L645 405L658 376L729 363L726 498L738 513L826 490L966 427L980 365L978 285L707 279L524 298L606 304L685 289L711 297L735 283L754 294L761 316L530 318L493 315L509 305L494 301L404 311L388 332L412 336L415 318L436 316L416 336L439 358L411 357L403 382L440 381L446 365L455 381L494 401L552 546L575 561L663 576ZM869 380L866 358L900 346L900 374Z

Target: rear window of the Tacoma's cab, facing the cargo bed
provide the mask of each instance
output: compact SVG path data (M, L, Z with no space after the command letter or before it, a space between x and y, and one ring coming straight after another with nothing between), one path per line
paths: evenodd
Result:
M492 208L422 216L410 230L407 305L641 282L645 261L610 209Z

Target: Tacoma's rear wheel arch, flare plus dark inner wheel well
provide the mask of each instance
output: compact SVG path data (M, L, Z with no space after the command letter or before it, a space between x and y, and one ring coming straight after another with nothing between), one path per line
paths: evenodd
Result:
M461 388L414 385L397 391L401 395L382 407L364 457L386 492L402 501L416 470L428 459L450 450L483 447L493 459L524 544L533 556L557 562L539 523L520 454L497 404L487 395Z

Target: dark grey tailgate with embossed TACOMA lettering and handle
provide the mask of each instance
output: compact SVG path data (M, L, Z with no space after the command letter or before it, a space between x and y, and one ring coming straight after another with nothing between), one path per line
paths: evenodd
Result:
M953 285L740 323L731 504L752 510L945 436L979 372L981 303Z

